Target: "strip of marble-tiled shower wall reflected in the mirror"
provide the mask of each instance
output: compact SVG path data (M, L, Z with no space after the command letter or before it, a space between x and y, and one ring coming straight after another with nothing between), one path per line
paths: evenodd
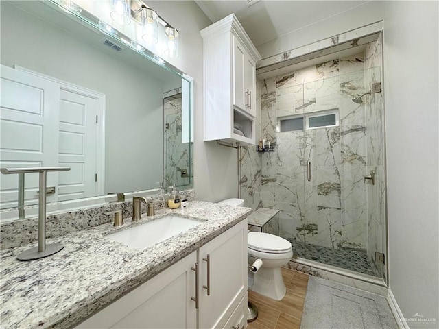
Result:
M189 185L189 146L182 143L182 99L181 94L167 97L163 100L165 115L165 130L163 136L165 164L163 166L163 180L165 186ZM188 175L182 175L186 170Z

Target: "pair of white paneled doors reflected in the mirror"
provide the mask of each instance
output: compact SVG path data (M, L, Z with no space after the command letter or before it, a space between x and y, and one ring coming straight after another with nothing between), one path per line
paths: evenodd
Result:
M48 173L47 202L102 194L104 95L39 73L1 66L1 167L71 167ZM99 182L97 182L99 178ZM1 207L17 205L18 177L0 175ZM25 204L38 203L38 174L25 175Z

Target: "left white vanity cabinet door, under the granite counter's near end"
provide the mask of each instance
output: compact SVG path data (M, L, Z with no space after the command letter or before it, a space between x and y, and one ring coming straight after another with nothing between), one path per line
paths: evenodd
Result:
M196 259L193 252L75 328L196 328Z

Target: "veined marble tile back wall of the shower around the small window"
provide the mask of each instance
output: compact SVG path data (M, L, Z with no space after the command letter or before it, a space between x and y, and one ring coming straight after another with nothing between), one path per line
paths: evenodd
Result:
M259 81L259 139L275 141L276 151L241 148L241 197L254 209L281 210L280 235L287 239L333 248L368 245L365 108L352 101L365 92L364 69L359 54ZM331 109L340 111L338 127L276 132L278 117Z

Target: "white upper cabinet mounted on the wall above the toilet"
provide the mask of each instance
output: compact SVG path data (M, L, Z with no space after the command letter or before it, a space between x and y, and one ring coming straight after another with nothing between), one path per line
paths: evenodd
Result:
M257 49L234 14L202 29L204 141L255 144Z

